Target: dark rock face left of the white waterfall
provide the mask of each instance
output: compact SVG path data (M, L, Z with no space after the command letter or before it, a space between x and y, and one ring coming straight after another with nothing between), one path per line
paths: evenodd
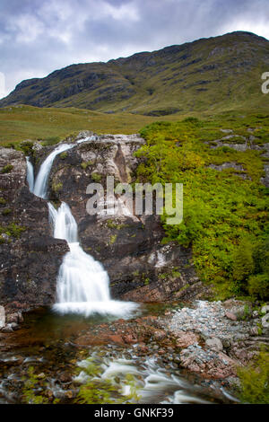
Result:
M0 304L12 312L55 302L56 276L68 246L50 235L48 206L28 189L24 155L1 148L0 172L6 165L13 168L0 176Z

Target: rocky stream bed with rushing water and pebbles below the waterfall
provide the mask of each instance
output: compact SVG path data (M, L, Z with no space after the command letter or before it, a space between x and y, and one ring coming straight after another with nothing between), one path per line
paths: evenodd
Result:
M25 402L30 385L42 402L74 403L93 363L123 394L132 374L134 402L238 403L237 367L268 344L261 318L242 321L244 312L230 300L142 304L129 320L27 313L19 330L0 333L0 402Z

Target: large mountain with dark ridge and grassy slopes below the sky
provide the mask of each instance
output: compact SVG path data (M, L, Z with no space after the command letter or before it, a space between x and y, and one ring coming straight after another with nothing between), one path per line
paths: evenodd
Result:
M261 75L269 41L250 32L143 52L107 63L67 66L22 81L0 107L76 107L149 116L266 107Z

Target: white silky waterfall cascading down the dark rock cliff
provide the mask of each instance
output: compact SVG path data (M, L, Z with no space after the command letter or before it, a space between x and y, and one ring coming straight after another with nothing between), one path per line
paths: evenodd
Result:
M91 140L90 137L77 141L77 144ZM33 185L33 171L27 160L27 180L30 190L39 198L48 198L48 178L52 164L58 154L74 147L75 144L58 145L41 164ZM56 303L53 309L60 313L112 314L128 317L136 303L111 300L109 277L100 262L82 250L78 240L77 224L70 207L65 202L56 210L48 202L49 218L54 227L54 237L68 242L70 251L66 253L59 269L56 286Z

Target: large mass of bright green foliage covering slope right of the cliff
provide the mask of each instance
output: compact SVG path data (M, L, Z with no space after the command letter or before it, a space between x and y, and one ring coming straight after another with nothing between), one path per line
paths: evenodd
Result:
M256 116L244 123L230 117L156 122L141 131L147 142L135 154L142 159L136 173L138 181L183 183L183 222L169 225L166 215L161 216L166 231L163 243L176 241L192 246L199 276L215 286L220 299L248 294L248 278L265 273L263 262L267 262L268 273L266 246L258 246L265 242L268 230L267 189L260 183L263 158L254 150L212 149L204 143L210 139L208 134L213 134L213 139L223 136L221 127L241 134L249 125L261 123ZM209 168L211 163L227 162L242 164L252 180L242 180L234 169ZM253 294L265 299L267 289L261 284L265 277L259 277L256 289L251 280Z

